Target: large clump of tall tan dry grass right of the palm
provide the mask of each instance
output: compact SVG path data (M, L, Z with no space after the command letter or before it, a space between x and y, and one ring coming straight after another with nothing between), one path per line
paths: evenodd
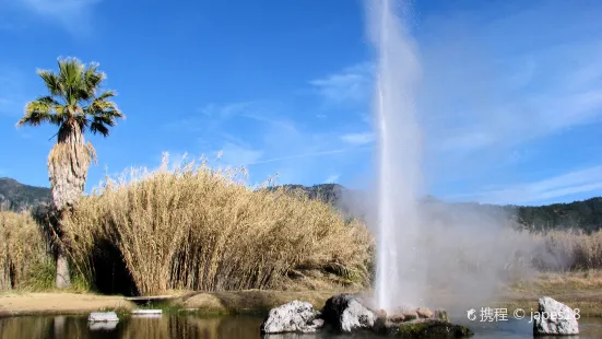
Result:
M72 259L92 272L95 246L114 244L141 294L279 287L295 268L366 284L371 236L331 207L285 190L251 189L244 168L206 162L107 179L64 223Z

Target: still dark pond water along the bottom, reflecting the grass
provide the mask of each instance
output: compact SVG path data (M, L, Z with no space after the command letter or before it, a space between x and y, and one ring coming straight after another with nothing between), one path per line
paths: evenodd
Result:
M121 338L260 338L262 318L255 316L198 317L163 315L156 318L126 317L114 328L98 324L90 327L86 317L81 316L24 316L0 318L0 339L121 339ZM460 320L459 323L462 324ZM497 323L463 323L480 338L532 338L532 327L527 320ZM581 335L573 339L602 338L602 318L581 318ZM271 335L270 339L326 339L344 338L329 334L320 335ZM355 335L353 338L379 338L374 335Z

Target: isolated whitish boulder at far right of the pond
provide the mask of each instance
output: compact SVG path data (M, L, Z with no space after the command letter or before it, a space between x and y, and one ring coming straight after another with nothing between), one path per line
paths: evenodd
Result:
M579 334L579 315L550 296L540 297L539 312L533 316L533 335L571 336Z

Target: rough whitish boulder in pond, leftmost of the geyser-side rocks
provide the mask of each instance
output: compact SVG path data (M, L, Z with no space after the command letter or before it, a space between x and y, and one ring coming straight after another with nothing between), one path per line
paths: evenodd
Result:
M319 315L310 303L293 301L270 311L261 324L261 334L315 332L323 326Z

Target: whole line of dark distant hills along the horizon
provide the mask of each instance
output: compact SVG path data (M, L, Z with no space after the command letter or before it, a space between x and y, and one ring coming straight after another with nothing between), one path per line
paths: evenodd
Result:
M367 218L368 206L374 199L359 190L351 190L338 184L315 186L284 185L285 188L320 199L338 208L344 215ZM270 187L268 189L275 189ZM21 211L39 203L52 201L50 188L24 185L15 179L0 178L0 210ZM435 197L426 197L422 203L428 208L429 218L468 220L477 211L492 220L509 223L531 231L579 229L586 232L602 230L602 197L569 203L539 207L481 204L475 202L449 203Z

